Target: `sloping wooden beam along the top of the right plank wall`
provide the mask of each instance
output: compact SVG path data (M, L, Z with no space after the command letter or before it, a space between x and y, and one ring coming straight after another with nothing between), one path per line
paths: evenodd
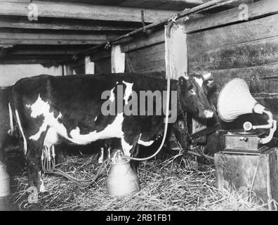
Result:
M197 18L194 20L189 20L185 23L186 32L198 32L200 30L211 29L213 27L219 27L224 25L229 25L232 23L241 22L239 13L242 9L232 8L227 11L222 11L220 13L215 13L212 15L207 15L203 18ZM255 18L260 18L266 15L271 15L278 13L278 1L277 0L264 0L257 1L253 4L248 4L248 16L249 20ZM180 22L184 23L184 22Z

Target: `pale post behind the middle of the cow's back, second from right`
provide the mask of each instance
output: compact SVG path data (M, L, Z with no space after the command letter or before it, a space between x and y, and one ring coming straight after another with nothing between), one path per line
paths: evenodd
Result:
M124 72L126 54L121 52L120 45L113 45L111 49L112 72Z

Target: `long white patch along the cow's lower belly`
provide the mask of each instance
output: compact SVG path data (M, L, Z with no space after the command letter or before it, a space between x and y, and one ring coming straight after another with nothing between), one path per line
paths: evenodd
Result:
M77 127L76 129L73 129L69 133L72 139L68 138L67 136L65 136L65 138L77 144L86 144L99 139L109 139L111 137L121 138L123 136L123 131L121 131L121 124L123 120L124 120L124 115L123 113L120 113L114 119L112 124L109 124L102 131L99 132L93 131L90 132L89 134L80 134L80 129L79 127Z

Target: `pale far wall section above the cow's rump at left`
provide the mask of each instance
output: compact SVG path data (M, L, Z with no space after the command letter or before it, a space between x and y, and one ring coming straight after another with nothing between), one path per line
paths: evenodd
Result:
M45 68L40 64L0 65L0 86L11 86L22 77L62 75L62 66Z

